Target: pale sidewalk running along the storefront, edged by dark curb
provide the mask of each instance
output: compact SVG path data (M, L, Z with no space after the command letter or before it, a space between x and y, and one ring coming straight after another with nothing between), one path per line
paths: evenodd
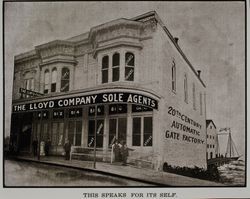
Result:
M121 166L105 162L96 162L96 168L93 168L93 162L82 160L64 160L63 157L41 157L40 161L34 157L18 156L16 159L40 162L43 164L64 166L81 170L95 171L98 173L123 177L136 181L151 183L152 186L178 186L178 187L194 187L194 186L225 186L221 183L216 183L197 178L191 178L163 171L155 171L150 169L141 169L133 166Z

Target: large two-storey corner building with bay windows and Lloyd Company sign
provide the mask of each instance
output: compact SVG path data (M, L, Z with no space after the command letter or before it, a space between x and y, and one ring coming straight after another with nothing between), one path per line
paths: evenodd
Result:
M84 25L84 24L83 24ZM12 141L20 151L65 139L110 161L206 168L205 85L156 12L117 19L15 56ZM40 134L41 133L41 134Z

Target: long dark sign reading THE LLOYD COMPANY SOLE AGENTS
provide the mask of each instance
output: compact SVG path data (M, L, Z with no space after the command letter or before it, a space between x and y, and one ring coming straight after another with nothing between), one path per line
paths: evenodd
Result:
M153 109L158 109L158 102L152 99L151 97L135 93L117 92L117 93L99 93L86 96L78 96L78 97L71 97L64 99L14 105L13 112L83 106L83 105L99 104L99 103L100 104L131 103L131 104L147 106Z

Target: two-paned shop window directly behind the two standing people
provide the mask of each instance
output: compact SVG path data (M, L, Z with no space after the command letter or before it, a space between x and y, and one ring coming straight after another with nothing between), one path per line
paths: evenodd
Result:
M112 118L109 120L109 146L118 139L119 142L127 139L127 118Z

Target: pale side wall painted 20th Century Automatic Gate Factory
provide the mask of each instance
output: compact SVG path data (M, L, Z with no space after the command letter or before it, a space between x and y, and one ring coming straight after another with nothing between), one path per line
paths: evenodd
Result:
M205 88L162 27L158 26L154 40L162 71L159 79L163 82L162 130L159 132L162 161L173 166L206 168ZM172 88L173 65L175 88Z

